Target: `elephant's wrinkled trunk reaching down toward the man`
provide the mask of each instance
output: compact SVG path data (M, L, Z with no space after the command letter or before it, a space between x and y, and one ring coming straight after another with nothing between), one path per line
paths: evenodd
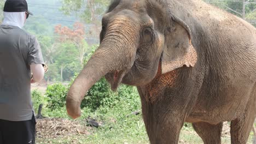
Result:
M126 28L124 24L121 27L115 26L115 29L109 27L110 30L100 47L98 47L97 51L75 79L66 98L67 112L72 118L80 117L81 101L84 99L86 92L102 76L115 72L117 75L113 76L113 80L116 83L120 83L122 76L125 74L124 71L132 67L135 61L136 48L135 43L131 43L131 41L136 42L136 37L134 35L127 35ZM115 34L117 31L119 35ZM134 47L134 49L131 49L131 47Z

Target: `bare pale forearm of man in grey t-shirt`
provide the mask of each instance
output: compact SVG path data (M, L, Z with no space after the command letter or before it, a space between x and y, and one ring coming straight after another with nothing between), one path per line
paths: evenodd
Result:
M33 73L31 83L40 82L44 78L44 67L42 64L31 64L30 69Z

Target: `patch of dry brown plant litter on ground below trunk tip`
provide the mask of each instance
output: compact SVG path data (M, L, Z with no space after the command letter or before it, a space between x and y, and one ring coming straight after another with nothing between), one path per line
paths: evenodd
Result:
M78 121L69 121L63 118L45 118L37 120L37 137L39 139L55 139L75 135L90 135L85 124Z

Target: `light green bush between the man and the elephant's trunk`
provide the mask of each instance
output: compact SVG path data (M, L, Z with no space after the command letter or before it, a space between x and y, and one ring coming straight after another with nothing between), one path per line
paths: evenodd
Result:
M48 98L48 107L51 110L59 109L66 105L68 88L61 83L55 83L46 88L45 96Z

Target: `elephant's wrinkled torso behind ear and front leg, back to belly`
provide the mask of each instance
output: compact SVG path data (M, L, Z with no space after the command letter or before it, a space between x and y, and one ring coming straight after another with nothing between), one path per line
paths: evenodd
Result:
M190 11L193 20L186 22L199 51L200 67L207 69L187 121L218 123L234 119L245 109L256 82L255 28L200 0L178 2Z

